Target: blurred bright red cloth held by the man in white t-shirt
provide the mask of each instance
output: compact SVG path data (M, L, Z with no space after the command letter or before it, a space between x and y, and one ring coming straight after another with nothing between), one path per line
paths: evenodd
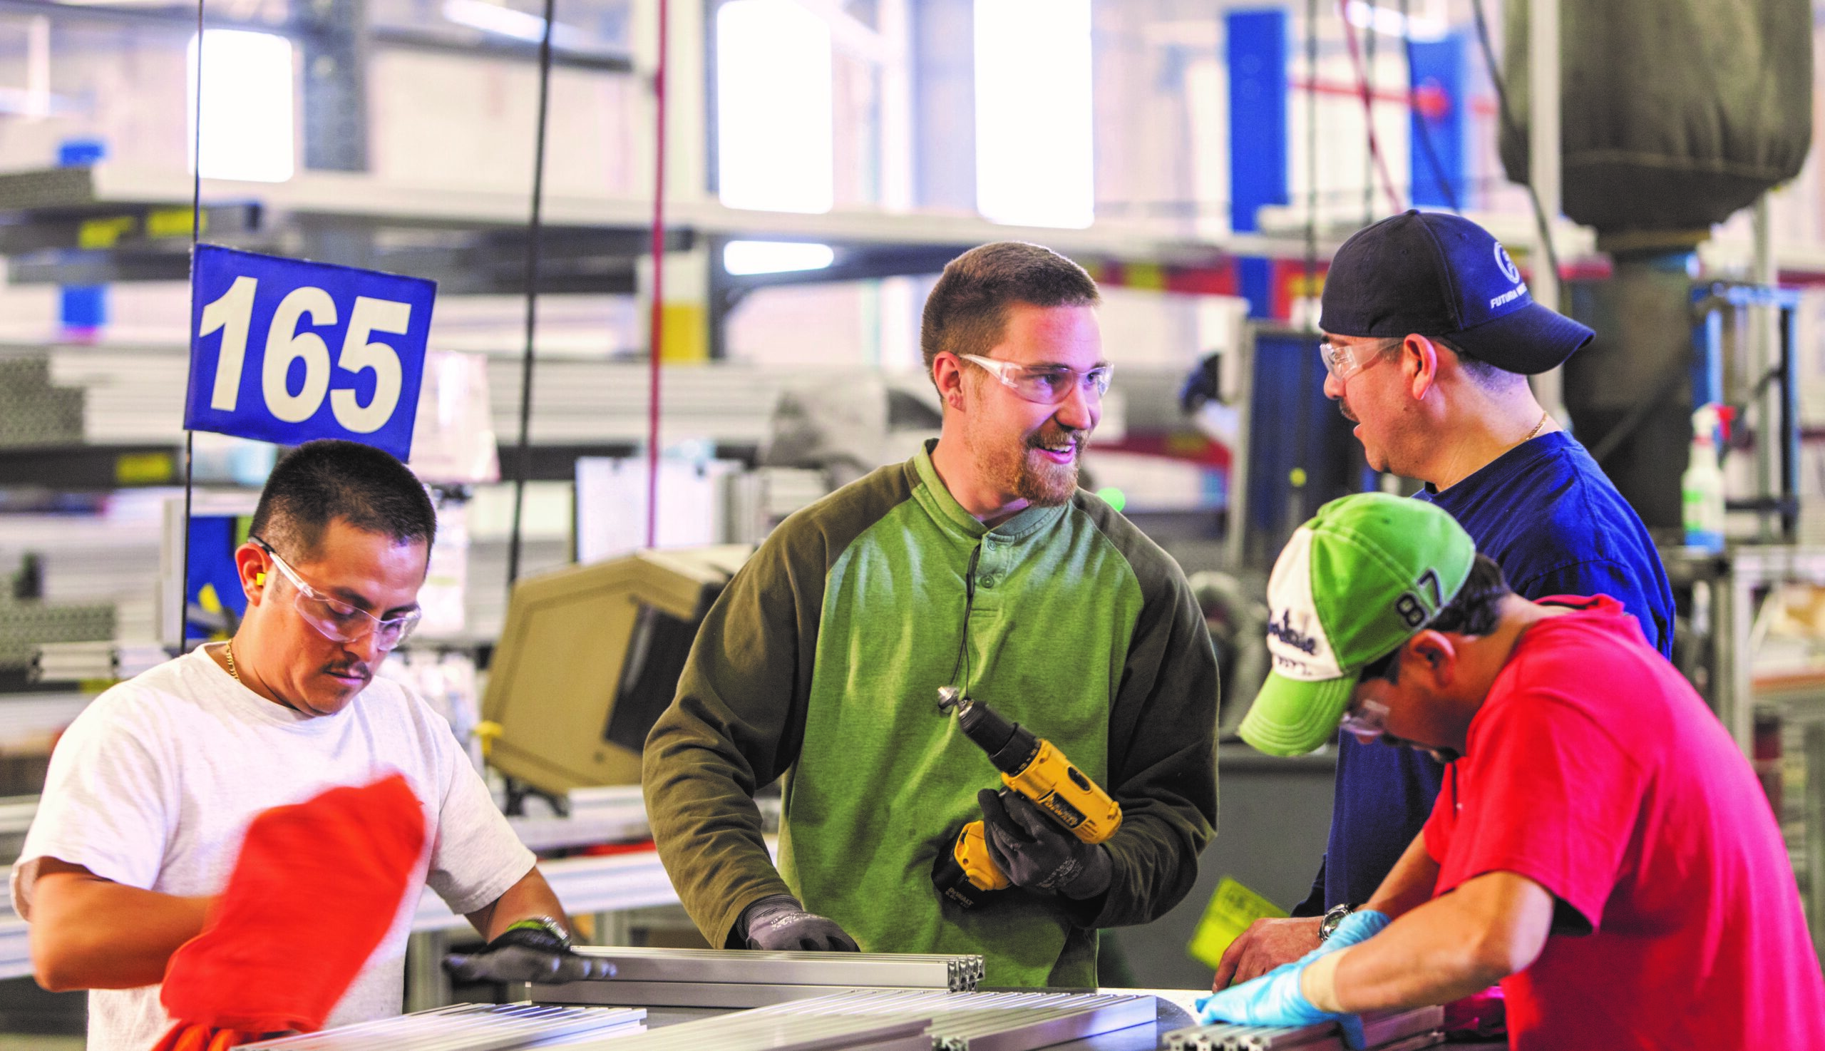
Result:
M157 1051L214 1051L219 1031L314 1031L400 914L425 847L398 774L254 817L203 932L164 971L177 1020Z

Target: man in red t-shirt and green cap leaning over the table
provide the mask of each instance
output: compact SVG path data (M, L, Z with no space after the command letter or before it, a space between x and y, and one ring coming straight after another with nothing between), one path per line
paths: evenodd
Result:
M1517 1049L1825 1047L1787 847L1723 724L1613 598L1513 595L1444 511L1336 500L1268 580L1241 734L1451 763L1425 830L1305 958L1206 1020L1307 1025L1500 982Z

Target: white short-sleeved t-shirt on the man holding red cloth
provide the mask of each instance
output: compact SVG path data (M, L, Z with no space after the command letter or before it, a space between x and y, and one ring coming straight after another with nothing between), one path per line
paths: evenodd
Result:
M307 717L246 690L197 650L108 690L51 755L13 867L13 907L31 918L38 858L162 894L217 894L256 814L394 770L425 806L427 858L328 1025L398 1015L420 889L429 885L453 912L474 912L535 859L449 724L387 679L336 715ZM307 901L334 909L308 896L294 907ZM146 1051L170 1025L157 985L89 991L89 1051Z

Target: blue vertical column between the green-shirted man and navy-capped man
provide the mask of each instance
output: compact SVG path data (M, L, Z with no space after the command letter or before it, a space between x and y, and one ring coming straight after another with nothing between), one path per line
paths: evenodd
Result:
M1230 69L1230 230L1256 230L1256 208L1287 197L1287 11L1225 16ZM1274 312L1274 261L1236 261L1252 317Z

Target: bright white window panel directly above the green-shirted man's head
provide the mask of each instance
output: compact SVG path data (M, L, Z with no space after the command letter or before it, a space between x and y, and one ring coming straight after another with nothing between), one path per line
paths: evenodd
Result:
M1090 226L1090 0L976 0L976 210Z

